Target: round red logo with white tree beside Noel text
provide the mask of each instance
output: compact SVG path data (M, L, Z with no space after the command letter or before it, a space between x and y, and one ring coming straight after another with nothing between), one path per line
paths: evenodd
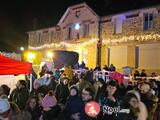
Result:
M85 105L85 113L90 117L96 117L100 112L100 106L97 102L91 101Z

